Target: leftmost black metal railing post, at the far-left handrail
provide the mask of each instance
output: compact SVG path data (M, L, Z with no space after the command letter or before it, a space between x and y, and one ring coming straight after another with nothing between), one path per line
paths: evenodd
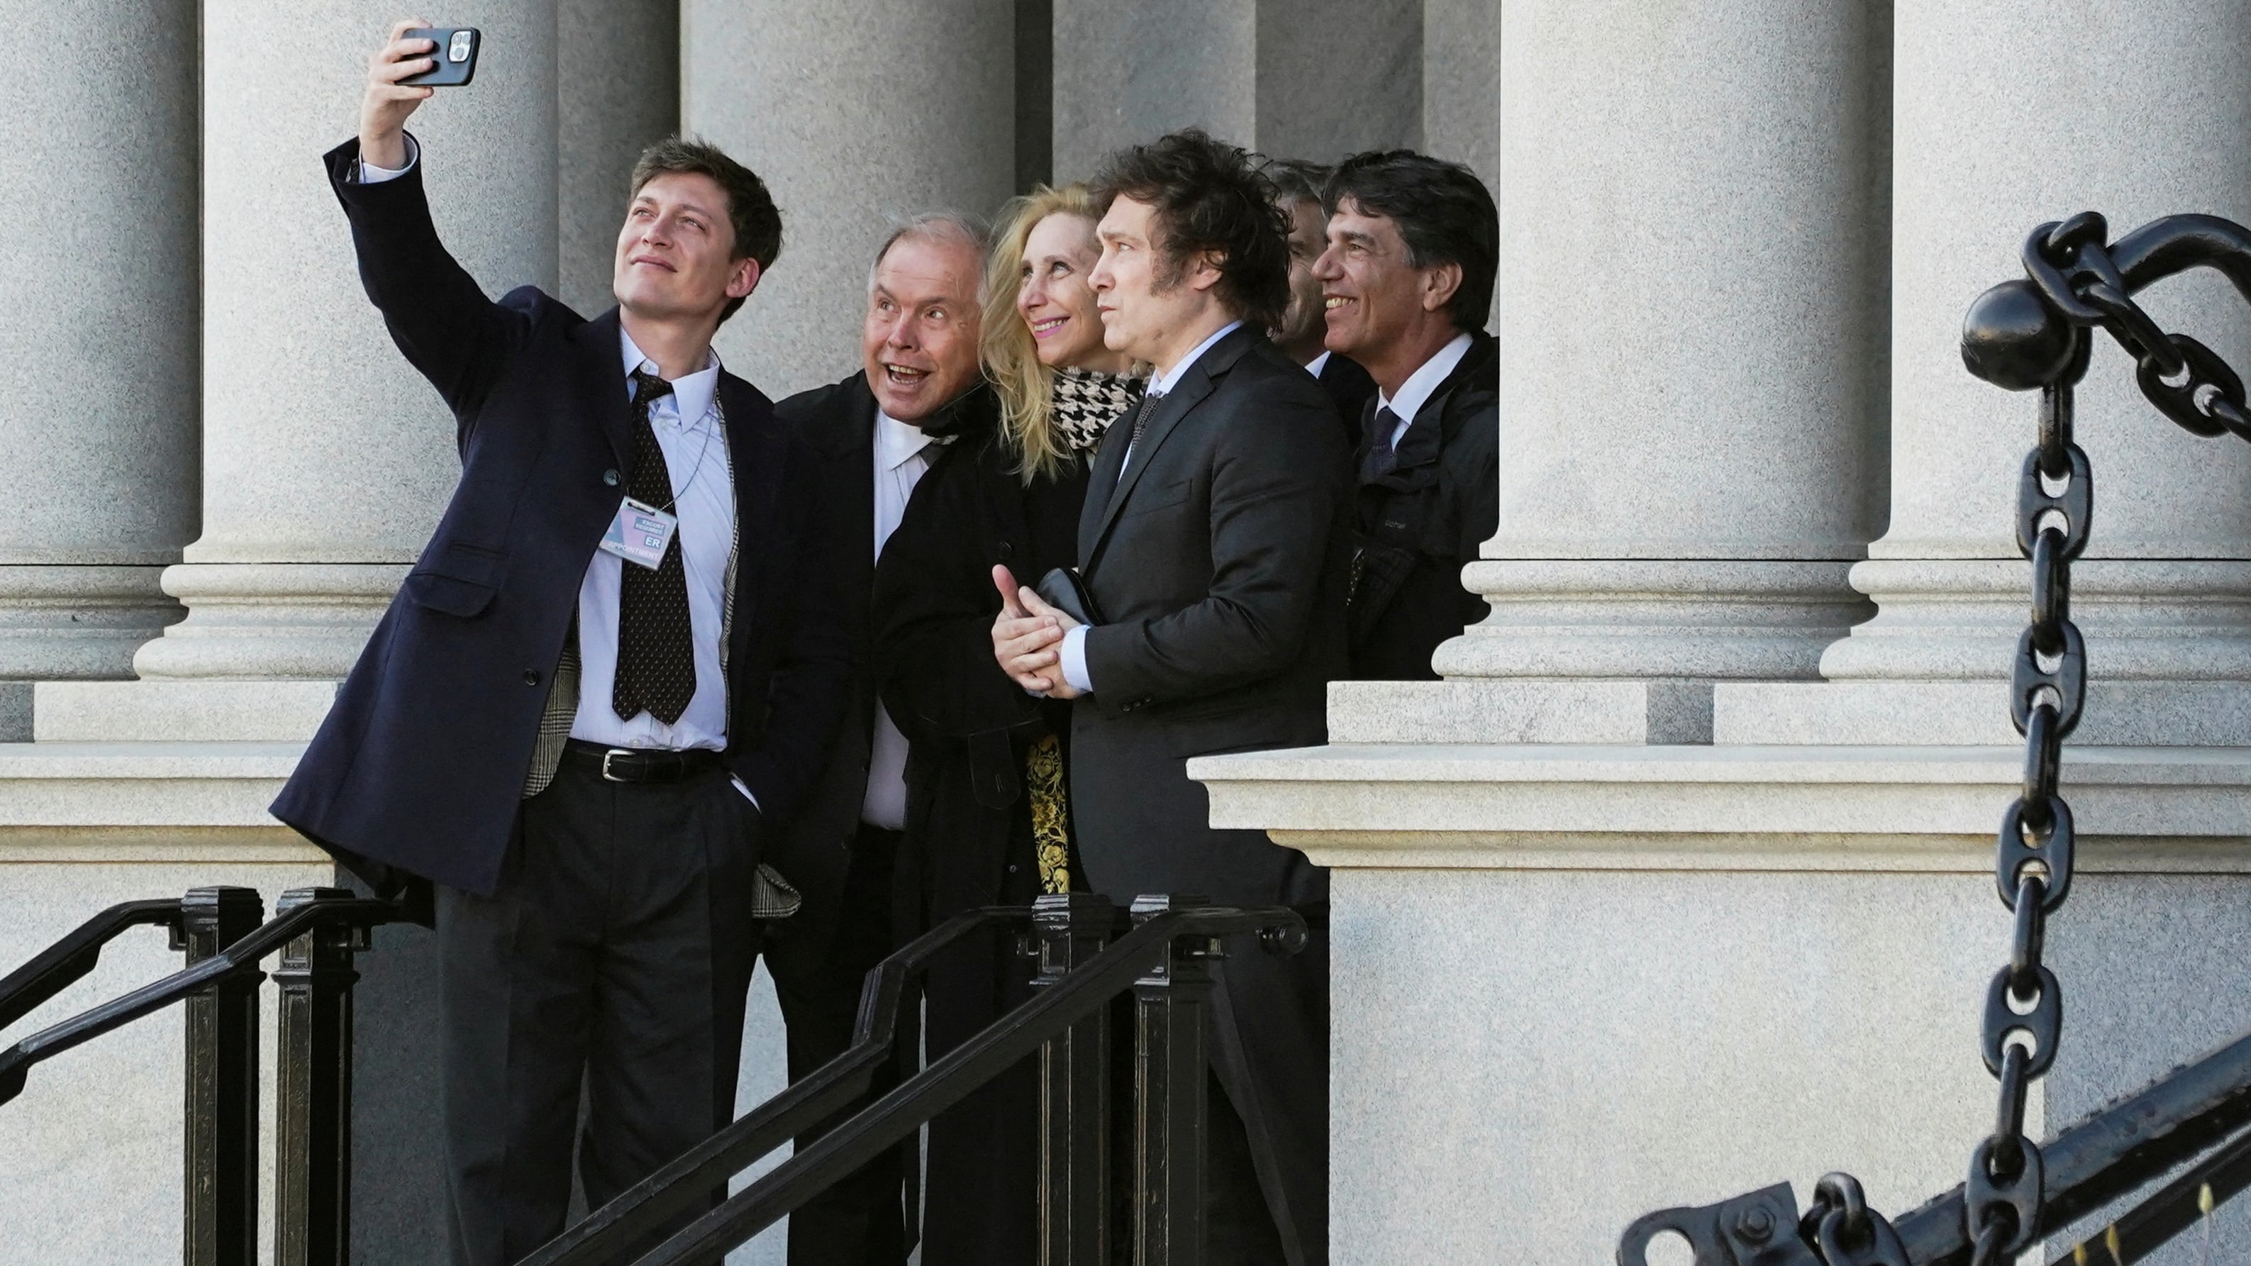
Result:
M254 888L191 888L180 939L196 966L266 919ZM259 1250L259 978L223 980L185 1002L187 1156L180 1257L252 1266Z

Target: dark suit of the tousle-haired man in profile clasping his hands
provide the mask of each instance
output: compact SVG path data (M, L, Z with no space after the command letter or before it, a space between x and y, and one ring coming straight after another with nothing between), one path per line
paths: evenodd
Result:
M1110 428L1078 520L1103 624L1071 712L1071 818L1092 885L1321 906L1328 872L1265 831L1211 829L1184 759L1321 743L1344 676L1351 475L1328 394L1238 329L1159 401L1126 464ZM1123 478L1119 469L1123 469ZM1116 496L1112 496L1116 489ZM1328 1246L1328 953L1218 964L1213 1066L1292 1266Z

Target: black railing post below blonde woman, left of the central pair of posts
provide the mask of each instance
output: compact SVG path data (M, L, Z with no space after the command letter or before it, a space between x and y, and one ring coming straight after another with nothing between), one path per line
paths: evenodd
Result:
M1031 903L1035 987L1110 944L1116 906L1092 892ZM1040 1045L1040 1266L1110 1266L1110 1009Z

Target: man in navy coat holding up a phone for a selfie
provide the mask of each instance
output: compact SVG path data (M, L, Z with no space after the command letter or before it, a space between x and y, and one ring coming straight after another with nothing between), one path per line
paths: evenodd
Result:
M563 1230L734 1111L761 861L835 728L819 460L711 354L781 250L765 185L651 146L617 306L493 302L439 243L394 27L326 155L360 279L455 414L461 482L275 802L378 892L434 897L448 1252Z

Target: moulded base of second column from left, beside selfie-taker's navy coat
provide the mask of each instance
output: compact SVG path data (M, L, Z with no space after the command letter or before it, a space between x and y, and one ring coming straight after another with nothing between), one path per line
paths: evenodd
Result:
M340 680L405 563L180 563L164 592L187 619L133 656L144 680Z

